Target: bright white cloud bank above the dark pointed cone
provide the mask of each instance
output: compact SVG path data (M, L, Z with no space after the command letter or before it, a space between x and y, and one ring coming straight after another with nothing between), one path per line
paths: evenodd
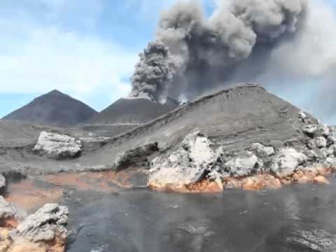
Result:
M131 76L136 62L137 53L119 45L57 28L38 29L0 55L0 92L113 89L127 85L123 79Z

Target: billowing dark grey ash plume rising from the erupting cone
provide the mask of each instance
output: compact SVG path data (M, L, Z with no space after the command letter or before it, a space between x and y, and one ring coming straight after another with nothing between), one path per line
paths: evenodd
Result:
M160 102L167 96L190 99L235 81L267 78L265 83L269 83L283 73L276 66L289 63L284 57L296 53L294 45L309 44L303 41L308 3L223 0L209 18L199 1L176 3L162 13L157 41L149 43L140 56L131 96ZM304 62L303 53L297 57L300 59L291 57L291 62Z

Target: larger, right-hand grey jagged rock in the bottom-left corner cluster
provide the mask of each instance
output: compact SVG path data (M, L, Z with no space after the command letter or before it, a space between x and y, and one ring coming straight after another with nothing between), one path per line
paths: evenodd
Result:
M66 239L69 210L58 204L45 204L35 214L28 216L15 230L15 235L33 242Z

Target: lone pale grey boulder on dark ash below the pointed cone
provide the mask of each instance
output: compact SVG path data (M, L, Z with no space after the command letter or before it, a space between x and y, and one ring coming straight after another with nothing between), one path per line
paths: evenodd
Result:
M48 158L76 158L80 155L82 144L74 137L64 134L41 132L33 151L46 155Z

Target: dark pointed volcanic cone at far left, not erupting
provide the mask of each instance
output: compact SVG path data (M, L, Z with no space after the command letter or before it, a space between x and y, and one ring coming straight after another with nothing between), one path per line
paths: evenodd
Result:
M53 125L76 125L89 120L96 113L83 102L53 90L37 97L3 119Z

